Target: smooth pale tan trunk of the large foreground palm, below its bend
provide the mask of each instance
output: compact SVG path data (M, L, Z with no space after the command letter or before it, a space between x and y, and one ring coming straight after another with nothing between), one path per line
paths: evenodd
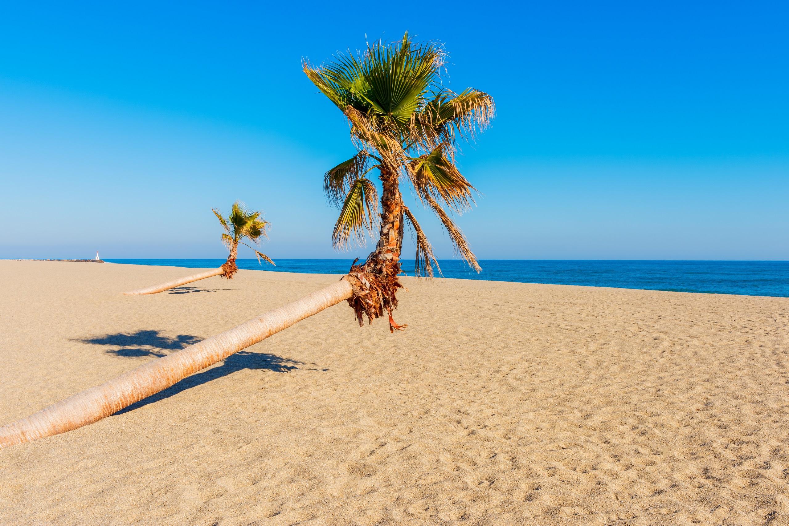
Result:
M57 435L93 423L136 401L172 386L280 330L347 300L353 285L343 278L284 307L266 312L233 329L186 349L141 365L132 371L0 427L0 447Z

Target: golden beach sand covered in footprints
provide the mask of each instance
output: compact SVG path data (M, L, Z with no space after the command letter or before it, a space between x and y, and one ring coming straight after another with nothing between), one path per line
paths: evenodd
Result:
M334 275L0 261L0 423ZM789 524L789 299L404 280L0 450L0 524Z

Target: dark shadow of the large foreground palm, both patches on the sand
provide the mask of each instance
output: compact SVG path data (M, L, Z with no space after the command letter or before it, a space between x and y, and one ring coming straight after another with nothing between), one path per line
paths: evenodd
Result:
M95 338L80 338L76 341L83 341L84 343L90 343L93 345L111 345L113 347L119 346L124 348L107 349L104 351L105 353L114 356L122 356L125 358L152 356L160 358L170 354L168 351L175 351L178 349L183 349L189 345L193 345L200 341L200 338L189 334L179 334L175 338L170 338L168 336L159 334L158 330L138 330L136 333L106 334L104 336ZM181 393L181 391L211 382L213 379L230 375L230 373L234 373L235 371L241 371L241 369L289 372L293 371L294 369L301 369L301 367L298 366L304 364L304 362L291 360L290 358L282 358L282 356L276 356L274 354L239 351L238 353L231 354L218 365L210 367L205 371L188 376L176 383L174 386L170 386L166 390L154 394L151 397L129 405L129 407L124 408L115 414L120 415L124 412L133 411L136 408L152 404L155 401L169 398L174 394ZM308 368L308 371L328 371L328 369Z

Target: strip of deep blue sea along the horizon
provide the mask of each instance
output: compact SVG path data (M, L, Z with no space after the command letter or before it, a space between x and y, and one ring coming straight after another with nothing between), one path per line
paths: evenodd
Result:
M219 267L224 259L106 259L109 263ZM276 259L276 267L238 259L238 268L310 274L345 274L351 259ZM477 274L456 259L439 261L445 278L502 282L590 285L684 293L789 297L789 261L582 261L554 259L481 260ZM402 263L413 276L413 260Z

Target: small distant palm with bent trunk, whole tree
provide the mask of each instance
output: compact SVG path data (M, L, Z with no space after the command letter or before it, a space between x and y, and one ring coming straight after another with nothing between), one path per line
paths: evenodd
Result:
M271 263L272 265L275 264L273 261L271 261L271 258L266 256L263 252L260 252L256 248L241 241L244 239L249 239L249 241L252 241L252 243L259 245L260 240L263 237L267 237L266 230L268 229L269 223L260 218L260 215L263 214L263 212L249 211L244 206L244 203L241 203L241 201L236 201L233 203L233 207L230 208L230 215L228 215L227 218L223 218L222 214L220 214L219 210L216 208L211 208L211 211L214 212L214 215L216 215L216 217L219 219L219 222L222 224L222 227L225 229L225 233L222 233L222 243L225 244L228 252L230 252L230 254L227 256L227 260L222 264L222 267L205 270L204 272L192 274L191 276L186 276L185 278L174 279L170 282L162 283L160 285L154 285L144 289L130 290L124 294L131 296L135 294L160 293L167 289L172 289L187 283L199 281L200 279L211 278L211 276L222 276L222 278L233 279L233 274L238 271L238 267L236 266L236 256L238 255L239 244L243 244L246 247L252 248L252 252L255 252L255 256L257 256L258 263L260 263L262 259L265 259L268 263Z

